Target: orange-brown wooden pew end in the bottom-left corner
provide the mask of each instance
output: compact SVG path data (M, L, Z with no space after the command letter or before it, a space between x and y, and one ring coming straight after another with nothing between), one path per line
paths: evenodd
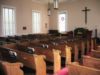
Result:
M20 67L23 67L21 63L8 63L8 62L0 62L2 69L6 75L24 75L23 71Z

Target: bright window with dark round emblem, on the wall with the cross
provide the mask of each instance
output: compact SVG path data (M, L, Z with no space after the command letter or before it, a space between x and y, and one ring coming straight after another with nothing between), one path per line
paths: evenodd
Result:
M60 33L67 30L67 14L66 12L60 12L58 14L58 30Z

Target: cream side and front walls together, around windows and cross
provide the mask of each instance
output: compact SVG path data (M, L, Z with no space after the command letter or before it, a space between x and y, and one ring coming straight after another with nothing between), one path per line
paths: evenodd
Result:
M98 29L100 36L100 0L77 0L73 2L64 2L59 4L59 9L54 10L52 6L51 16L47 15L47 5L34 3L32 0L0 0L0 35L1 35L1 5L10 5L16 7L16 26L17 34L32 33L32 10L38 10L42 13L42 33L47 33L48 29L57 29L57 13L61 10L68 12L68 30L76 27L85 27L90 30ZM87 6L91 11L88 12L88 23L85 25L84 12L82 10ZM47 28L45 27L47 24ZM50 25L49 25L50 24ZM26 26L27 30L22 27Z

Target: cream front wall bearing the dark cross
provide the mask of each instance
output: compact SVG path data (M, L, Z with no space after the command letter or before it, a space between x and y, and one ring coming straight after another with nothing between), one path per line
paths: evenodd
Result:
M85 15L82 10L87 6L91 11L88 12L88 22L85 24ZM66 10L68 12L68 30L77 27L85 27L90 30L98 29L100 36L100 0L77 0L73 2L64 2L59 4L59 9L52 7L50 16L50 29L57 29L57 13ZM94 32L93 32L94 34Z

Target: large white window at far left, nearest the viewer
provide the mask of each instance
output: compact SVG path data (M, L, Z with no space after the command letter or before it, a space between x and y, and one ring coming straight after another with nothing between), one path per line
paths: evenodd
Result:
M3 6L2 15L3 35L15 35L15 8Z

